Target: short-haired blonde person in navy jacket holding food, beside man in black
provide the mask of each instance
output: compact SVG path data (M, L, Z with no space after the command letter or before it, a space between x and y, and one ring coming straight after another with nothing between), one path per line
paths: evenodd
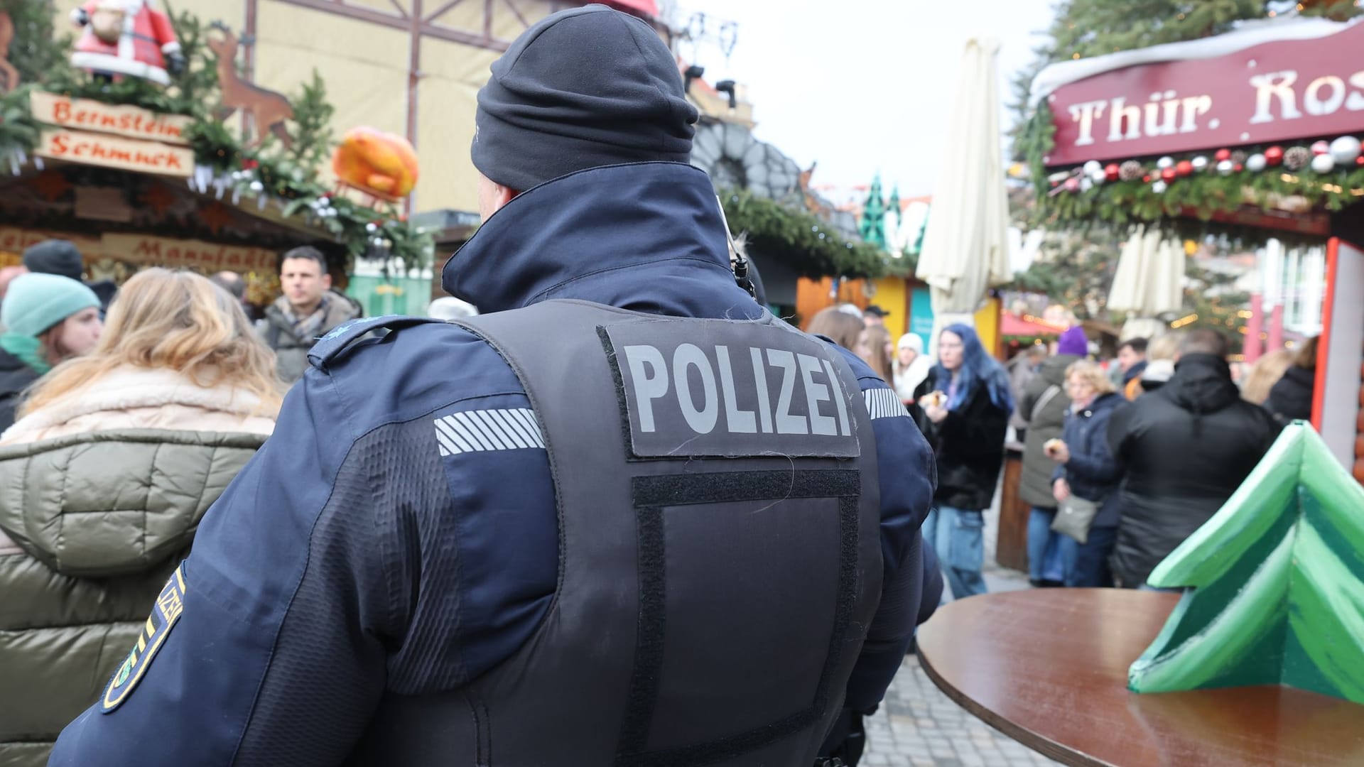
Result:
M1109 453L1108 424L1113 412L1127 404L1127 397L1117 393L1113 381L1093 362L1071 364L1065 386L1072 401L1065 429L1061 441L1048 445L1046 450L1061 464L1052 475L1052 493L1057 504L1075 495L1098 505L1084 543L1061 536L1065 585L1109 587L1113 573L1108 558L1117 540L1123 467Z

